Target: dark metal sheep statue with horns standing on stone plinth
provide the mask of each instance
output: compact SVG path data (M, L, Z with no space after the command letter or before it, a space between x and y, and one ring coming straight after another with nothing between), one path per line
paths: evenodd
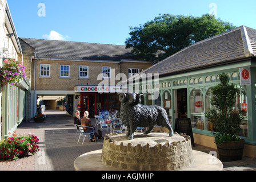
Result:
M137 127L149 127L144 134L149 134L155 125L166 127L173 137L173 129L171 128L167 113L160 106L145 106L140 104L141 95L138 93L121 93L119 95L121 109L119 117L123 125L127 126L127 134L129 140L134 137Z

